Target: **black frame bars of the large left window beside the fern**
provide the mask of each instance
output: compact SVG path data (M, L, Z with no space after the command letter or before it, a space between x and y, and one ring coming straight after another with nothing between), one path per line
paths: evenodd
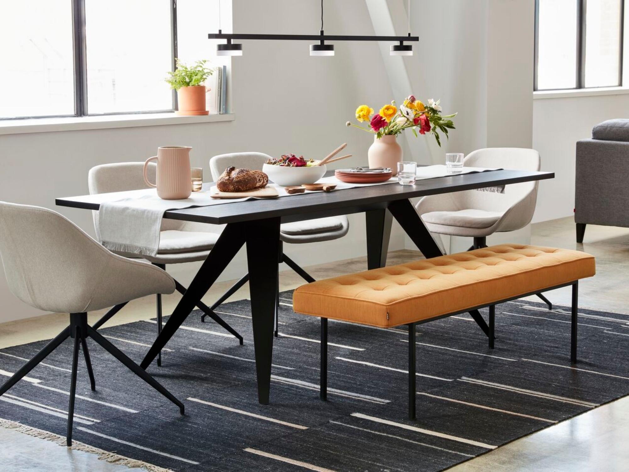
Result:
M81 118L84 116L148 115L150 113L172 113L177 110L177 93L172 91L172 108L151 111L111 111L108 113L88 113L87 111L87 52L85 0L72 2L72 48L74 67L74 115L8 116L5 120L31 120L37 118ZM170 0L170 62L175 70L177 57L177 0Z

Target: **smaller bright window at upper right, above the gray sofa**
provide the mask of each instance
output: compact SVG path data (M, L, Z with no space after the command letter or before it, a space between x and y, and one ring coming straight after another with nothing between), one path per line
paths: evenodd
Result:
M535 90L623 84L625 0L535 0Z

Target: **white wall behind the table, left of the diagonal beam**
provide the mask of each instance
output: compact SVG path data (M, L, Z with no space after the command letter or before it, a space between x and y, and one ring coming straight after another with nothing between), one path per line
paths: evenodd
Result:
M317 2L234 0L233 30L318 34L319 8ZM327 2L325 15L326 30L373 34L363 0ZM192 165L204 167L206 176L212 155L238 150L322 157L347 142L354 157L342 166L366 163L372 138L347 128L345 121L365 101L391 100L377 43L337 43L335 57L310 57L308 42L244 42L243 50L232 61L235 121L0 136L0 200L54 208L93 234L89 211L55 207L55 197L86 194L92 166L145 160L160 145L192 146ZM396 232L391 249L403 244ZM366 250L364 217L351 218L350 233L342 240L286 250L304 265L361 256ZM242 276L243 261L239 257L223 278ZM187 283L194 267L183 264L170 271ZM13 298L4 278L0 307L0 322L41 313Z

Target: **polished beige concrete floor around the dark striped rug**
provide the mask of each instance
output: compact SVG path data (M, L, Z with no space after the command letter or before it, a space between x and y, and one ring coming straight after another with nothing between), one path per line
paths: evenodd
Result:
M579 249L597 258L597 275L579 284L579 305L584 308L629 313L629 229L587 227L584 244L576 244L572 218L537 223L532 229L532 244ZM418 252L401 250L389 253L387 265L407 262L419 257ZM364 270L366 258L339 261L308 267L316 279ZM281 289L292 289L303 281L292 271L281 273ZM216 284L204 301L211 303L231 282ZM548 292L554 303L569 305L570 289ZM248 297L245 285L230 300ZM164 297L164 312L168 313L179 296ZM532 297L531 300L537 300ZM537 300L538 301L538 300ZM153 297L136 300L112 318L107 325L129 323L154 316ZM90 314L95 322L102 313ZM17 322L0 324L0 348L50 339L67 325L67 315L45 315ZM629 397L595 408L560 424L533 433L483 456L450 469L470 471L625 471L629 469ZM45 458L40 461L37 458ZM28 437L0 428L0 463L13 460L12 471L109 471L124 466L98 461L94 454L68 451L53 442ZM18 466L18 464L20 464ZM3 469L6 464L3 464Z

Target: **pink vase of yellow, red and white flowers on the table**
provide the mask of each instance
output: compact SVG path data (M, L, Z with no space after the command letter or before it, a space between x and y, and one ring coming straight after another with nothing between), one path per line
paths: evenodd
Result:
M448 137L448 130L454 129L454 123L450 118L454 118L457 114L442 115L440 100L428 100L428 105L424 105L413 95L408 96L404 100L399 110L394 101L391 104L384 105L379 113L373 117L374 109L368 105L360 105L356 109L356 119L358 121L367 121L368 128L353 125L349 121L345 123L347 126L354 126L360 130L372 133L374 135L374 143L369 147L367 159L369 167L389 167L393 175L398 173L398 162L402 160L402 148L396 141L396 137L411 128L415 137L417 130L420 134L432 133L437 144L441 146L439 131Z

